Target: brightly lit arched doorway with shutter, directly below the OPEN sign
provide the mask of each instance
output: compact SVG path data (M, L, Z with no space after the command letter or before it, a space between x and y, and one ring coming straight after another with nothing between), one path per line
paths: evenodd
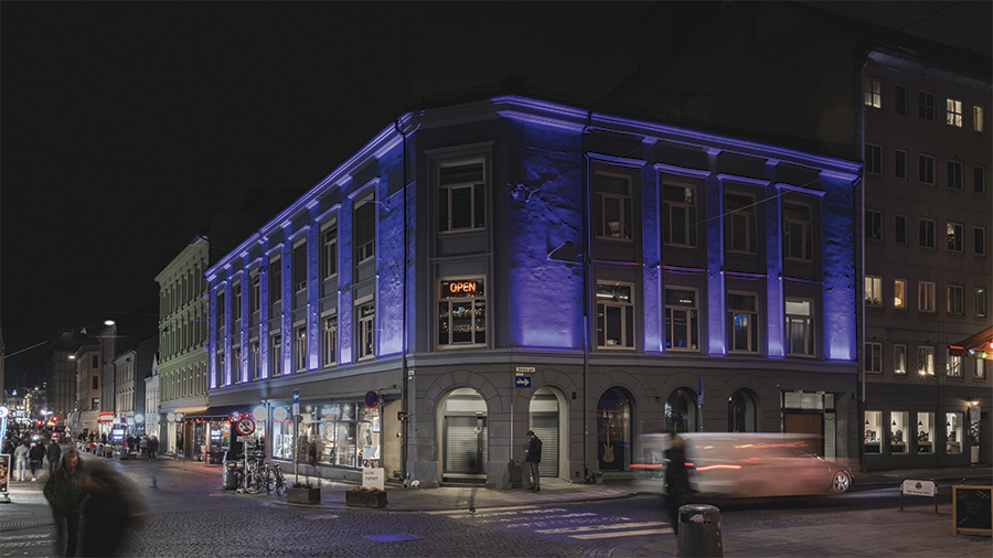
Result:
M487 474L487 401L472 388L452 390L441 403L441 474Z

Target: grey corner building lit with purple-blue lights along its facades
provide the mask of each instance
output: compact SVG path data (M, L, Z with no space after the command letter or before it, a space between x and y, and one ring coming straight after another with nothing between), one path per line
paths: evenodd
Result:
M405 114L205 271L210 405L423 487L520 486L528 429L573 482L673 428L857 459L859 170L522 96Z

